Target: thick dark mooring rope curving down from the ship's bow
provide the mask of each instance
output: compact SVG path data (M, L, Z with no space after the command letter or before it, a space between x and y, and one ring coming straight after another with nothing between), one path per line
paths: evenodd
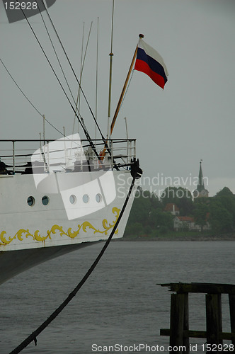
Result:
M132 165L133 166L133 165ZM136 165L135 165L136 166ZM79 282L78 285L76 285L76 287L74 288L74 290L72 292L70 292L69 296L67 297L67 299L64 300L64 302L62 302L62 304L59 305L59 307L57 307L57 309L55 309L54 312L52 312L52 314L48 317L48 319L46 321L44 321L39 327L38 329L36 329L32 334L30 334L30 336L28 336L28 338L26 338L18 347L16 347L14 350L11 351L10 354L17 354L20 353L21 350L23 350L24 348L26 348L28 346L28 344L30 344L31 342L35 342L35 346L37 345L37 337L38 335L59 315L60 312L62 312L62 310L64 309L64 307L67 306L67 304L69 304L69 302L71 301L71 299L73 299L73 297L76 295L77 292L79 292L79 290L81 289L82 285L84 285L84 283L86 282L86 280L88 279L88 277L91 275L91 273L93 272L93 270L96 268L96 265L98 264L98 262L101 260L101 257L103 256L103 253L105 253L105 250L107 249L108 245L110 244L110 241L117 229L117 226L120 222L120 219L122 218L122 215L125 211L125 207L127 206L127 202L130 199L130 195L132 193L132 189L134 187L134 181L136 178L139 178L138 176L138 171L137 169L134 169L134 171L132 171L132 183L130 185L130 188L128 190L127 193L127 197L125 199L125 202L122 206L122 210L120 212L119 217L117 218L117 222L115 223L113 230L110 234L110 236L108 237L107 241L105 242L105 245L103 246L103 249L101 249L101 252L98 254L96 260L93 262L93 264L91 265L91 267L88 269L88 271L86 272L86 274L84 275L84 278L81 279L81 281Z

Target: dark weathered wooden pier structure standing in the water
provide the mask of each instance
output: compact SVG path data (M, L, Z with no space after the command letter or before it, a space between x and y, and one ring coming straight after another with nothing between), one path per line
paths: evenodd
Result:
M170 336L174 353L190 353L189 338L205 338L205 353L235 353L235 285L202 282L160 284L169 287L171 294L170 329L160 329L161 336ZM190 331L188 319L188 294L205 293L206 331ZM231 333L222 331L222 294L229 295ZM231 346L223 348L223 340ZM214 350L212 350L214 348Z

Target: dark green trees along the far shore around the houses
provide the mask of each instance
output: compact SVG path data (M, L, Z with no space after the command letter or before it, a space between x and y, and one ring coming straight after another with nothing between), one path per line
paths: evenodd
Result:
M201 231L209 222L211 232L235 232L235 195L224 187L214 197L195 198L190 190L167 187L159 198L156 194L137 188L125 236L158 236L173 232L171 212L164 211L168 203L175 204L180 216L193 217Z

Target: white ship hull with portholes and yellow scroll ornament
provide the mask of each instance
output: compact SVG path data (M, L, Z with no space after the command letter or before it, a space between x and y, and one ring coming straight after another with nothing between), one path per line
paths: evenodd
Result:
M71 176L77 185L71 185ZM84 176L91 182L82 184ZM95 172L53 175L59 193L57 188L52 190L51 183L50 188L45 183L37 188L33 174L0 175L0 283L51 258L108 239L132 180L127 170L112 171L112 176L110 183L115 183L115 195L108 200L108 189L105 190L108 180L103 186L97 184ZM61 188L66 179L69 190ZM98 185L98 191L102 190L101 200L96 200L94 184ZM82 200L84 193L88 202ZM123 236L133 193L113 239ZM49 200L47 205L42 204L45 195ZM67 202L71 195L76 195L75 205ZM28 205L29 197L34 198L33 205Z

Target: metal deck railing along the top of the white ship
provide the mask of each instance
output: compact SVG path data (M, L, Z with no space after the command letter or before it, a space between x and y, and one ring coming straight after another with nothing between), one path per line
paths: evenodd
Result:
M38 161L40 172L49 172L52 169L62 171L73 169L69 161L80 166L83 171L88 164L95 169L110 167L111 169L130 169L132 159L136 156L136 139L108 139L106 147L103 139L93 139L93 147L87 139L71 139L71 147L50 149L50 143L55 139L0 139L0 174L32 173L32 161ZM105 154L103 154L105 148ZM62 154L59 154L62 152ZM98 156L97 156L98 155ZM62 157L63 156L63 157ZM59 166L62 170L59 170ZM27 170L28 169L28 170Z

